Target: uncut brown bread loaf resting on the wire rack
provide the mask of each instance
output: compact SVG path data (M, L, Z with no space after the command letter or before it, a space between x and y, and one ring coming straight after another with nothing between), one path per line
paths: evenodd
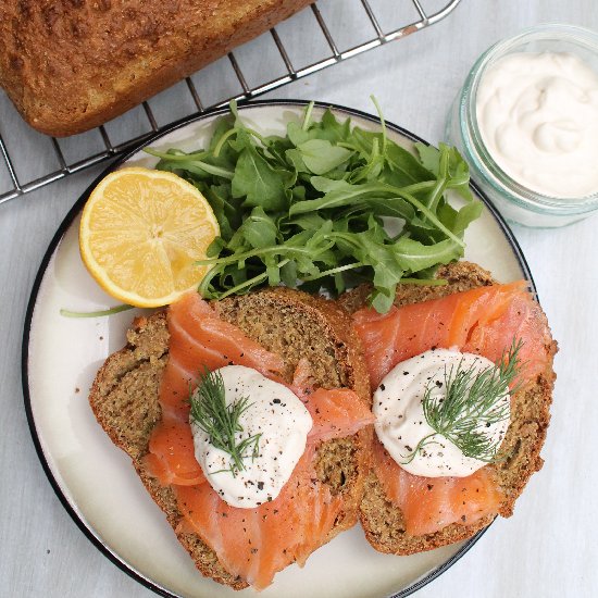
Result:
M313 0L4 0L0 87L48 135L114 119Z

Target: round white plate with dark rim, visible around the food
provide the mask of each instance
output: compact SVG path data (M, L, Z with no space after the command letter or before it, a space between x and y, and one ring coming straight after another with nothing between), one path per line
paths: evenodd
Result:
M286 122L299 121L303 105L292 101L257 102L240 110L244 120L260 133L281 134ZM316 107L314 116L323 109ZM364 128L378 126L377 119L366 114L340 107L335 110ZM149 145L185 150L203 147L223 112L184 123ZM402 145L409 146L415 139L399 127L388 127L389 136ZM125 164L153 166L155 159L137 152L113 167ZM59 313L61 308L92 311L115 304L90 278L79 259L77 225L87 195L77 201L48 249L25 325L25 407L41 463L82 531L113 562L148 587L165 595L192 597L214 596L216 591L219 596L253 595L251 589L235 593L196 571L130 460L114 447L91 413L87 394L94 376L104 359L124 346L125 331L135 312L86 320ZM465 240L465 257L490 270L498 279L531 281L516 242L491 207L468 229ZM313 598L406 596L450 566L475 539L411 557L394 557L371 548L358 525L317 550L303 569L291 565L278 573L260 597L303 598L306 588Z

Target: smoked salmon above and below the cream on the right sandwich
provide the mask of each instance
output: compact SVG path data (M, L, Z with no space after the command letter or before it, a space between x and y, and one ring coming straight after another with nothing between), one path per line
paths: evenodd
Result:
M372 388L399 362L432 348L456 348L498 362L513 341L523 341L518 384L532 382L547 366L551 337L546 317L524 281L458 292L393 309L353 314ZM374 471L388 500L404 516L406 532L432 534L454 522L474 523L497 513L502 500L482 468L468 477L415 476L406 472L374 438Z

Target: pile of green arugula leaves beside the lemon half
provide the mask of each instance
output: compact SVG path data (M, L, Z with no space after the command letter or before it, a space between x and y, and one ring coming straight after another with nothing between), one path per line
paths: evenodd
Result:
M401 281L429 282L463 256L482 203L454 148L415 144L412 153L388 139L382 115L372 133L329 109L313 122L312 108L285 137L262 137L233 103L208 149L147 150L160 158L157 169L195 185L219 221L221 237L201 262L212 266L203 297L281 283L334 295L369 281L373 307L386 312ZM460 209L451 192L464 200Z

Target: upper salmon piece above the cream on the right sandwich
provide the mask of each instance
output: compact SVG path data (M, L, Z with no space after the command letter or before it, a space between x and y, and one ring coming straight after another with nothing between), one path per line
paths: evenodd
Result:
M520 359L525 377L545 365L550 344L540 310L520 281L479 287L402 308L393 307L383 317L372 308L353 314L362 340L372 388L400 361L439 347L483 354L497 361L513 338L524 345Z

